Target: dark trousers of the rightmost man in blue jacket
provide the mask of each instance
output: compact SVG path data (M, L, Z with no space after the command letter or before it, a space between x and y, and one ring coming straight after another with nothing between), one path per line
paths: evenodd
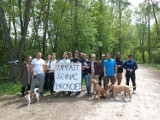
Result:
M133 90L136 90L136 76L135 75L126 75L126 85L129 86L129 81L132 81Z

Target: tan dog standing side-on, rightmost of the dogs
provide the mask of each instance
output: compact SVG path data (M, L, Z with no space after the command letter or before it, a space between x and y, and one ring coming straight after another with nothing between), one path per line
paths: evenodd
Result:
M114 100L116 99L116 96L118 95L118 93L121 93L121 92L124 92L125 96L126 96L126 93L128 94L128 96L130 97L130 100L132 99L132 96L131 96L131 89L129 88L129 86L126 86L126 85L112 85L110 84L108 86L108 91L111 91L113 92L114 94Z

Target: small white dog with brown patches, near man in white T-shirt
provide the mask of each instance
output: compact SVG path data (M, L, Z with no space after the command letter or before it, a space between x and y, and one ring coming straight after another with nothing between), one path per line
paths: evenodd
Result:
M28 94L25 95L24 98L27 101L28 106L30 106L30 104L32 102L32 98L36 98L37 103L39 103L39 97L40 97L40 95L39 95L39 89L35 88L33 93L31 93L30 91L28 91Z

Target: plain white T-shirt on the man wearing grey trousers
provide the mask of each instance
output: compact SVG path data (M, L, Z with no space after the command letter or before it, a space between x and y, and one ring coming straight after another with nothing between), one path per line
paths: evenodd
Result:
M44 73L43 71L43 66L45 65L45 61L43 59L37 59L37 58L34 58L31 62L32 65L34 65L34 72L36 74L42 74Z

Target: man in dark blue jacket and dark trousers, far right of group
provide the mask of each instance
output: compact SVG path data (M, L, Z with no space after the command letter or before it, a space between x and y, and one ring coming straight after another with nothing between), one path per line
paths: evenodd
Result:
M126 69L126 85L129 86L130 78L133 85L133 93L136 94L136 75L135 70L138 68L137 63L133 60L133 55L128 55L128 60L124 63Z

